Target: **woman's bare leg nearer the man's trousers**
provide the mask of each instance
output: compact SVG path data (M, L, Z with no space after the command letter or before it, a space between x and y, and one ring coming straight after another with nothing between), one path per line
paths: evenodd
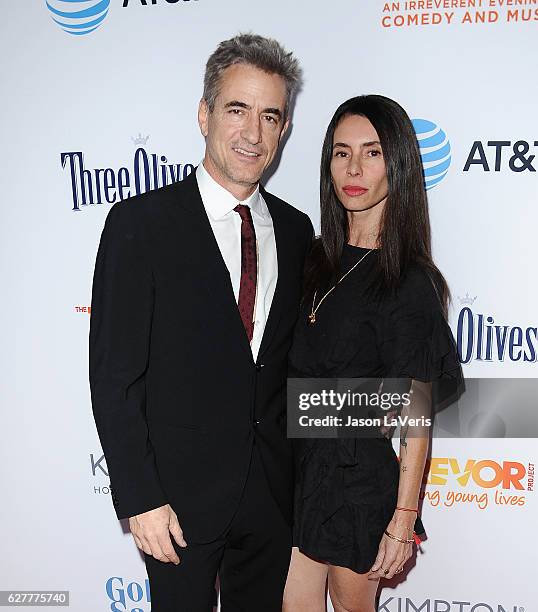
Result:
M326 563L307 557L294 546L291 551L282 611L326 612L327 574Z

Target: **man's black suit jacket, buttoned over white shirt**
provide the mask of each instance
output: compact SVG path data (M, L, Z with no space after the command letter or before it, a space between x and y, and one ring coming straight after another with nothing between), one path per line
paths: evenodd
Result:
M114 204L93 277L89 378L118 518L169 503L187 542L227 526L254 439L291 522L287 353L308 217L262 189L278 281L254 363L195 174Z

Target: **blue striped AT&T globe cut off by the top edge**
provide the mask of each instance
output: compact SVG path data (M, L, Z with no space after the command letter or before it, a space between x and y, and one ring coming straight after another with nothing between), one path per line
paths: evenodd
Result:
M103 23L110 0L46 0L46 4L52 19L64 32L82 36Z

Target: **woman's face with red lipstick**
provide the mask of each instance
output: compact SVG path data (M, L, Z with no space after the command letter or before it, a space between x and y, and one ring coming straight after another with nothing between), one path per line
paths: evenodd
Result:
M336 196L348 211L384 204L388 194L379 137L366 117L346 115L333 139L331 176Z

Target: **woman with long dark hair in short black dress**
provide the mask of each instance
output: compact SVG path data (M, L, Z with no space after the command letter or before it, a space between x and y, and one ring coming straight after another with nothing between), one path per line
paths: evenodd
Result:
M289 376L406 379L408 412L422 414L432 383L456 389L462 374L448 287L431 257L418 144L401 106L368 95L337 109L320 194L321 236L307 262ZM285 612L325 611L327 586L336 612L374 612L379 579L403 571L423 531L423 433L402 427L399 457L388 434L294 440Z

